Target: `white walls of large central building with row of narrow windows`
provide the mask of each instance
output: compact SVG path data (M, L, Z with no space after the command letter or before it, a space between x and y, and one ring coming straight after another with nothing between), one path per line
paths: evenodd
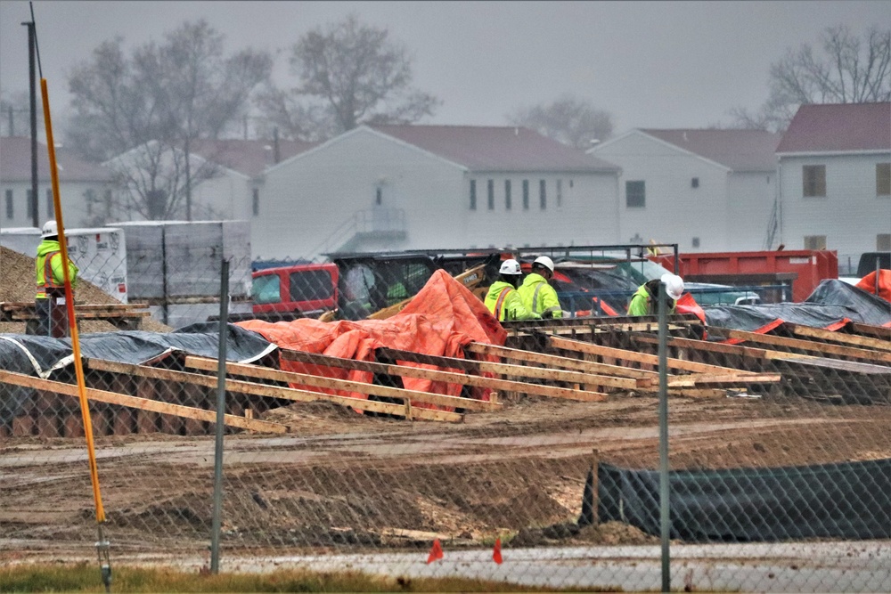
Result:
M511 179L511 211L504 180ZM487 180L495 208L487 207ZM522 180L530 182L522 208ZM547 207L539 201L546 183ZM557 207L556 181L562 180ZM405 236L380 237L351 250L576 245L616 241L615 175L480 174L368 130L357 130L266 173L260 213L251 217L255 258L315 257L338 248L365 221L401 211ZM470 209L470 180L477 208ZM571 185L570 185L571 181ZM380 205L377 204L380 189ZM361 224L359 225L361 226ZM367 228L367 227L366 227Z

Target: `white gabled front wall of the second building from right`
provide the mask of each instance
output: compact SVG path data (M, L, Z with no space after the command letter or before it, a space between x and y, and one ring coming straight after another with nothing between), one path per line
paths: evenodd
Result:
M677 243L682 252L733 248L727 229L728 170L645 134L591 151L622 168L618 183L622 242ZM699 187L692 187L693 178ZM644 207L628 207L626 182L643 181ZM694 245L699 239L699 246Z

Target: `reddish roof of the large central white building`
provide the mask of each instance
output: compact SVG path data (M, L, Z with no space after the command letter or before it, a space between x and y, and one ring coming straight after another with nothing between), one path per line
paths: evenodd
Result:
M517 126L369 126L471 171L615 172L618 167Z

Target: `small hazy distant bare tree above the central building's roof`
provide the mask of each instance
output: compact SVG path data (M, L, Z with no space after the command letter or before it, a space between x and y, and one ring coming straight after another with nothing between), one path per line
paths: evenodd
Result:
M539 134L576 149L587 149L591 141L604 141L612 135L612 115L593 103L570 94L550 104L521 108L507 116L514 126L526 126Z

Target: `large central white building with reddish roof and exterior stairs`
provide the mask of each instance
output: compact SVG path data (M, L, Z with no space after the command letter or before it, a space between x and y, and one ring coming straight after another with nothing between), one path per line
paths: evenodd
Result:
M617 167L523 127L360 126L261 182L255 259L619 239Z

